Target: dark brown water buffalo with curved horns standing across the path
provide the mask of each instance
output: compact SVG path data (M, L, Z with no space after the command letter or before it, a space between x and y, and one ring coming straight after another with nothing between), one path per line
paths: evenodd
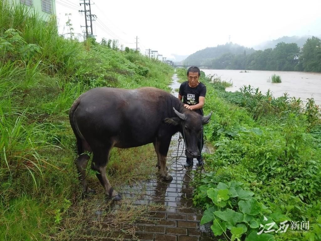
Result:
M173 95L152 87L126 90L94 88L83 93L69 112L70 125L77 139L76 166L84 193L95 192L87 186L85 168L93 153L91 168L108 198L119 201L107 176L106 165L112 147L129 148L153 143L157 166L162 178L171 181L167 173L166 156L172 135L180 131L186 142L186 155L197 157L197 139L208 116L201 116L183 106Z

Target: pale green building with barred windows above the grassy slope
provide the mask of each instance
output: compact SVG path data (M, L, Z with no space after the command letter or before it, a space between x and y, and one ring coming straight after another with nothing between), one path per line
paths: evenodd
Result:
M53 15L56 15L55 0L8 0L9 4L24 4L28 9L39 13L39 16L47 21Z

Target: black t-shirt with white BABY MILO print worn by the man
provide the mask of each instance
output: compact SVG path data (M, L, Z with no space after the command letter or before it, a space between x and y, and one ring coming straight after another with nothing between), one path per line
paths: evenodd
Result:
M184 104L195 105L199 103L200 96L205 97L206 86L200 82L196 87L192 88L188 85L188 81L185 81L180 85L178 93L183 96ZM194 111L203 115L203 108Z

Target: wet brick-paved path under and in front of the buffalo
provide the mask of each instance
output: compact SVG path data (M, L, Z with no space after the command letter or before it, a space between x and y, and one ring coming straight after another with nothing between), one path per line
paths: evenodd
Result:
M172 89L179 88L177 76L172 77ZM178 95L174 91L175 96ZM134 233L115 232L101 240L149 240L149 241L209 241L214 238L210 226L201 226L202 210L193 206L193 188L189 186L193 174L201 173L194 159L192 168L184 168L186 162L184 140L178 141L179 133L172 137L169 147L167 166L173 177L171 182L163 181L159 174L155 179L138 183L122 190L124 199L134 199L134 205L157 206L142 220L134 222ZM208 152L204 145L203 152ZM176 161L176 157L178 160ZM156 160L155 160L156 164ZM156 168L155 168L156 169ZM204 173L204 170L202 170ZM198 173L196 173L198 175ZM159 205L159 206L158 206Z

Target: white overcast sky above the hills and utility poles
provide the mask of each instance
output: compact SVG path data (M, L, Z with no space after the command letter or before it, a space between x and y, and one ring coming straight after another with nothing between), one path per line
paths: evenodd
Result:
M87 0L88 1L88 0ZM56 0L61 34L67 33L65 13L71 13L75 33L85 28L79 0ZM190 55L229 41L253 47L292 35L321 35L321 0L91 0L97 15L93 32L118 39L124 48L158 50L163 57ZM119 46L120 46L119 44Z

